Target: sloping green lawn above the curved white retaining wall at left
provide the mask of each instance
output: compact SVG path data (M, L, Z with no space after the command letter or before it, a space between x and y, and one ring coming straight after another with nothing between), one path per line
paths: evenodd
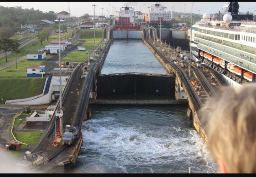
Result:
M45 78L0 78L0 97L5 100L40 95Z

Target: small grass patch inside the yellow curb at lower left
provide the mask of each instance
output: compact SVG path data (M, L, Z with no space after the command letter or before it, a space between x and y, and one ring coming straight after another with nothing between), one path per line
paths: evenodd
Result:
M39 138L42 136L42 132L17 132L15 133L16 139L22 143L28 145L35 145ZM22 146L24 146L22 144Z

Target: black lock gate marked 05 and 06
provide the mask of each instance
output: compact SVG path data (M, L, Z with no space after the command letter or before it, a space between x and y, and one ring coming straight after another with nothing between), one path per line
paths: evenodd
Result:
M175 77L116 75L97 76L97 99L111 95L158 95L175 98ZM122 99L120 97L120 99Z

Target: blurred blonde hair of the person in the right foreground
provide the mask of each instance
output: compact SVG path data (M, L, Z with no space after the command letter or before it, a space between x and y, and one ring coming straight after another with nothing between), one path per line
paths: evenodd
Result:
M256 84L225 88L202 110L209 113L204 130L213 158L228 173L256 173Z

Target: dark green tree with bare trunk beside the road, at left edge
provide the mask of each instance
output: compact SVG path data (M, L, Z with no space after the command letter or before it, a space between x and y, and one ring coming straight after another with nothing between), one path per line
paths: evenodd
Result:
M9 38L5 37L0 37L0 50L3 50L5 52L5 62L7 62L7 55L6 52L11 51L14 52L15 51L15 42L14 40L11 40ZM20 44L18 44L16 42L17 48L20 46Z

